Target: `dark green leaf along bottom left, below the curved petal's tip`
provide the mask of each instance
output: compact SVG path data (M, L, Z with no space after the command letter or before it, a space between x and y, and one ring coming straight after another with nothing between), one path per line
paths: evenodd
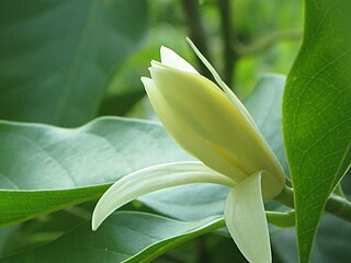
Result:
M118 211L91 231L84 222L37 249L1 259L14 262L150 262L167 250L224 226L222 217L177 221L151 214Z

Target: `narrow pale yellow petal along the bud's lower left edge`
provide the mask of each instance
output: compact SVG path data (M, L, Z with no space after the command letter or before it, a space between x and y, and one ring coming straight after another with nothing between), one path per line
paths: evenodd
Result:
M248 175L236 165L238 160L218 145L208 141L192 129L165 101L151 79L141 78L152 107L167 132L191 155L203 161L207 167L220 172L235 181Z

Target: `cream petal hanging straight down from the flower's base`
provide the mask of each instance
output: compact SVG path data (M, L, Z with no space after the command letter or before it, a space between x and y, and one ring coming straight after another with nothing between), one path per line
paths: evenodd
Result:
M236 185L227 197L224 210L230 236L250 263L272 262L261 173Z

